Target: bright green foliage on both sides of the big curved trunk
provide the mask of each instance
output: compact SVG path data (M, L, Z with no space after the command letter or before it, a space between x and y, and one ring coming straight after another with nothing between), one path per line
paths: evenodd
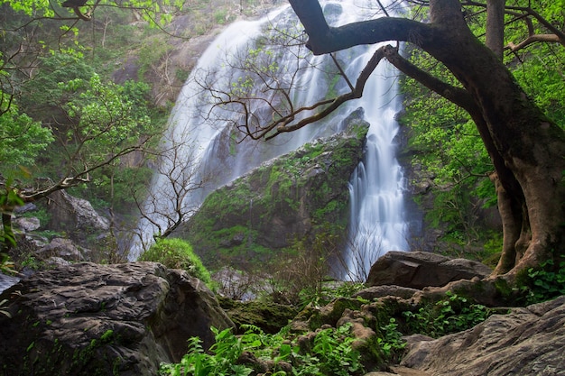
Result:
M528 5L523 1L512 3L514 6ZM484 41L486 13L481 7L468 9L468 24ZM536 10L558 29L563 29L565 14L560 2L540 4ZM505 22L506 67L511 69L514 78L544 114L561 128L565 127L565 50L558 44L542 42L522 50L511 50L513 43L524 41L531 34L542 34L543 27L535 25L535 30L529 30L529 23L516 22L515 14L511 12L506 14ZM457 82L429 54L412 48L408 48L405 54L415 65L434 76L450 84ZM418 168L414 183L431 181L434 202L425 213L426 222L431 227L443 229L440 241L449 243L447 247L439 243L438 250L451 252L451 255L496 261L502 249L502 234L486 223L484 210L497 204L495 186L489 179L495 168L477 127L465 110L431 92L413 78L403 76L401 85L404 111L400 120L410 135L411 163Z

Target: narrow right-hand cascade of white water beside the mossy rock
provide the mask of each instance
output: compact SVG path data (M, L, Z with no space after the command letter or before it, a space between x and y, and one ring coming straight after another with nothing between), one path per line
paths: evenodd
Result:
M380 64L360 99L371 126L364 159L349 180L349 241L342 276L349 280L366 280L371 265L385 252L408 250L403 208L405 179L395 158L394 143L399 130L394 115L400 103L396 83L387 77L392 77L390 68Z

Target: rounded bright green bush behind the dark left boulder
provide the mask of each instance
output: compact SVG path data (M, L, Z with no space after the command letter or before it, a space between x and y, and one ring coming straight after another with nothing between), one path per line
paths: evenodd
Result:
M211 282L208 270L192 251L190 243L181 239L159 239L142 253L139 261L161 262L167 268L188 271L206 284Z

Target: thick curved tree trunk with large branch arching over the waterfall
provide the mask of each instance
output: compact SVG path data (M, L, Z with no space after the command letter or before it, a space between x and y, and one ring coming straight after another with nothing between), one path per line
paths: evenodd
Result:
M496 273L514 273L565 254L565 133L525 95L496 54L470 32L458 0L431 0L431 23L391 17L337 28L328 26L317 0L289 1L315 54L408 41L458 78L473 104L463 107L477 124L499 179L505 245Z

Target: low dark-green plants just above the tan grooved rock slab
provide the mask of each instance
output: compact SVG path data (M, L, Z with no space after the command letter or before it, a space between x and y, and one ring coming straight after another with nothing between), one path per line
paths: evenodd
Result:
M403 316L411 333L438 338L476 326L492 313L490 308L448 291L434 305L421 307L417 312L405 311Z

